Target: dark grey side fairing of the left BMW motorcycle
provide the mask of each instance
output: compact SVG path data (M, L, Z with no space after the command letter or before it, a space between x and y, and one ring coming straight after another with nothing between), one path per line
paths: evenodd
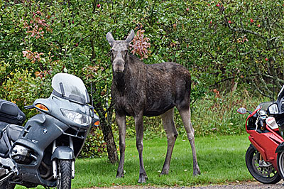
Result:
M45 117L45 118L43 118ZM22 180L29 180L31 183L45 184L49 187L54 187L56 182L43 180L40 177L38 168L40 162L43 160L43 152L50 144L53 143L62 133L68 128L68 126L62 121L51 117L48 114L37 114L28 120L23 131L21 131L16 145L26 146L31 150L35 158L29 164L16 163L18 167L18 176ZM47 132L45 132L47 130ZM36 175L36 176L35 176Z

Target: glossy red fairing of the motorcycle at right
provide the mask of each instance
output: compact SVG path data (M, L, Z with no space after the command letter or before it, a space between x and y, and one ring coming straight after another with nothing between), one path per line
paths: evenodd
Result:
M266 124L266 129L269 132L259 133L255 129L251 130L247 128L247 122L249 118L253 117L253 115L256 114L258 110L259 109L256 109L246 119L246 131L249 134L249 141L251 141L251 144L253 144L253 146L259 151L259 153L261 153L263 160L270 162L275 168L275 170L278 171L277 153L275 153L275 150L278 147L278 145L284 141L283 138L275 132L279 131L279 129L273 130L267 124Z

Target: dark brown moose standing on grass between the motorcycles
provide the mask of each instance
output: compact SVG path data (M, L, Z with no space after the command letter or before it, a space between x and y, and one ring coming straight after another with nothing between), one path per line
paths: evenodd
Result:
M135 55L129 54L129 43L134 31L125 41L114 41L111 32L107 41L111 46L112 85L116 123L119 127L120 160L116 178L124 177L126 115L132 116L136 129L136 148L139 156L138 183L148 179L143 164L143 116L161 115L167 136L168 148L160 175L168 174L178 131L174 123L174 107L178 109L190 141L193 158L193 175L200 174L195 150L195 131L190 120L190 72L177 63L146 65Z

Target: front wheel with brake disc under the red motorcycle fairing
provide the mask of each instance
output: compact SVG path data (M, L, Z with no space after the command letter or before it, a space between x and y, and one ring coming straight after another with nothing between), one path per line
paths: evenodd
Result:
M260 183L275 184L281 180L281 176L272 164L261 159L261 153L252 145L246 151L246 167L253 178Z

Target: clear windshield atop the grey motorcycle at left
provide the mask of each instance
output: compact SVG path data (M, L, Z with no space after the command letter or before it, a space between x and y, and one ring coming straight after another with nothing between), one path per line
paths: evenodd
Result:
M53 77L51 86L62 97L82 104L89 103L89 95L84 82L75 75L58 73Z

